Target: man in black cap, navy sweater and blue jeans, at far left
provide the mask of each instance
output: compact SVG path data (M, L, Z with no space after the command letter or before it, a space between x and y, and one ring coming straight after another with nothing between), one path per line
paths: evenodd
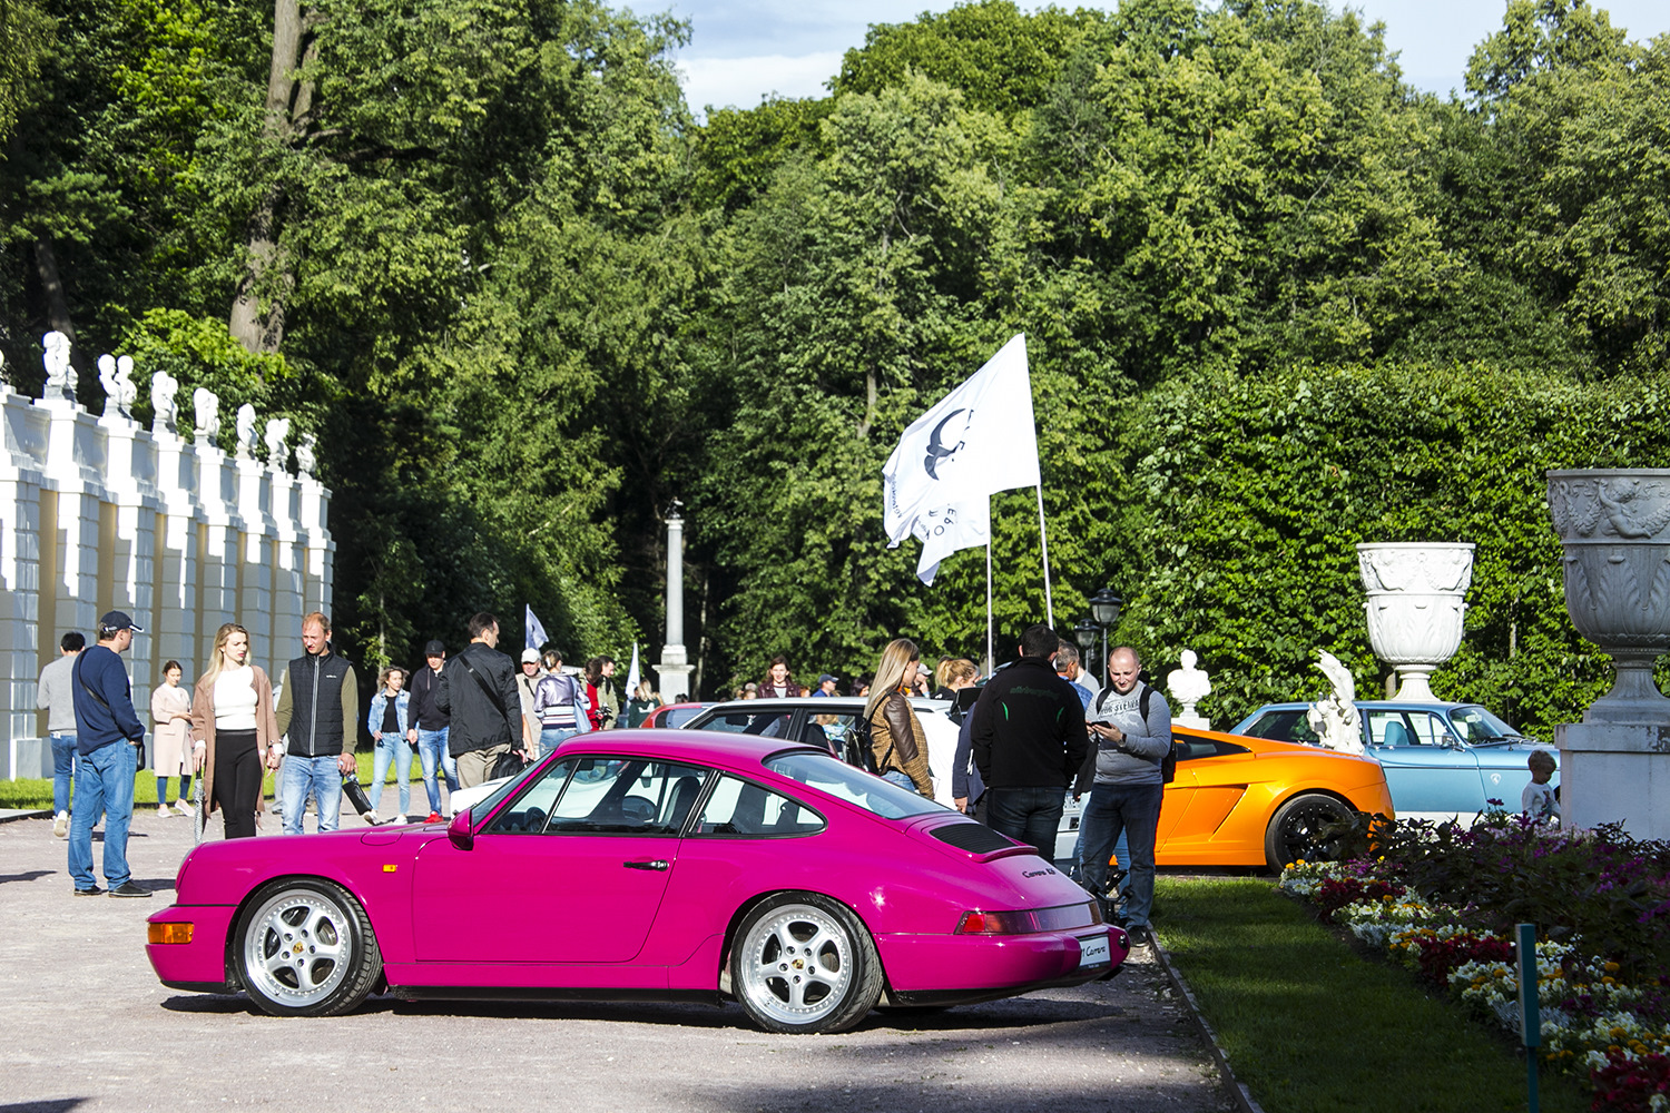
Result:
M127 866L127 828L134 821L134 776L145 724L134 711L134 687L119 654L134 644L134 626L122 611L99 619L99 644L75 659L75 808L70 813L70 878L77 896L97 896L94 824L105 818L104 873L110 896L150 896L134 884Z

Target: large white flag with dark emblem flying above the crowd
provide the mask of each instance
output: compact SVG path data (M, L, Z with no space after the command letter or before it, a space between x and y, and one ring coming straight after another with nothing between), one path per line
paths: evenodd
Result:
M1002 347L967 382L905 429L882 469L882 526L888 547L924 539L917 576L934 582L939 562L984 546L997 491L1039 486L1027 339ZM955 507L947 522L947 507Z

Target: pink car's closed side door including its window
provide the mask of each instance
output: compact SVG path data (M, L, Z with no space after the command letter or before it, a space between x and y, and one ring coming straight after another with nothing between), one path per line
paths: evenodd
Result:
M471 849L418 854L419 961L626 963L655 924L706 771L571 758L501 809Z

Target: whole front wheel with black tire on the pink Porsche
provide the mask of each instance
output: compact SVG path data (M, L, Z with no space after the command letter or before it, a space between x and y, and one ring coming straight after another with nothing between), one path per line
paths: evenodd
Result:
M256 894L232 934L249 1000L272 1016L339 1016L359 1008L382 973L371 919L342 886L277 881Z

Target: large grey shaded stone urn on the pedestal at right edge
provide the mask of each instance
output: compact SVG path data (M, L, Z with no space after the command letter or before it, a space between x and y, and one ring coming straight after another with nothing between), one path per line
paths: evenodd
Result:
M1566 612L1617 669L1583 723L1670 724L1670 699L1653 684L1653 662L1670 651L1670 469L1551 471L1548 514L1565 551Z

